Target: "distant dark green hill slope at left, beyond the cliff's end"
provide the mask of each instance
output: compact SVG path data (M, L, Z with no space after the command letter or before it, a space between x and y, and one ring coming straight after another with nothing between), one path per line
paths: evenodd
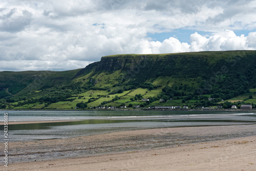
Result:
M22 71L0 72L0 89L7 89L17 96L31 93L36 90L65 84L74 78L77 70L70 71ZM3 92L3 90L1 91ZM0 93L1 93L0 92Z

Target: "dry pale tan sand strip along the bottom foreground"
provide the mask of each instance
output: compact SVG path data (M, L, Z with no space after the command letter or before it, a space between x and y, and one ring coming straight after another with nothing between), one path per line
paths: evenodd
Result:
M255 142L256 136L248 136L91 157L18 162L9 164L6 170L256 170Z

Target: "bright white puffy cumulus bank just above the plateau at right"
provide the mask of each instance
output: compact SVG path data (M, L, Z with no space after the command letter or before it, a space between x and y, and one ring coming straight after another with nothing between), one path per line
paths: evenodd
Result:
M190 45L174 37L163 42L150 41L150 45L151 50L148 51L152 53L256 50L256 32L251 32L248 36L237 36L233 31L225 30L209 37L196 32L190 35Z

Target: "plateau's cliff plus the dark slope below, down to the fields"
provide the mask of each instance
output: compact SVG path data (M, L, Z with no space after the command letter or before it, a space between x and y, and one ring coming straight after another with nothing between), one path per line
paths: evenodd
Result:
M131 89L152 83L176 90L185 86L183 91L198 95L234 97L256 88L256 51L104 56L82 69L77 78L94 89Z

